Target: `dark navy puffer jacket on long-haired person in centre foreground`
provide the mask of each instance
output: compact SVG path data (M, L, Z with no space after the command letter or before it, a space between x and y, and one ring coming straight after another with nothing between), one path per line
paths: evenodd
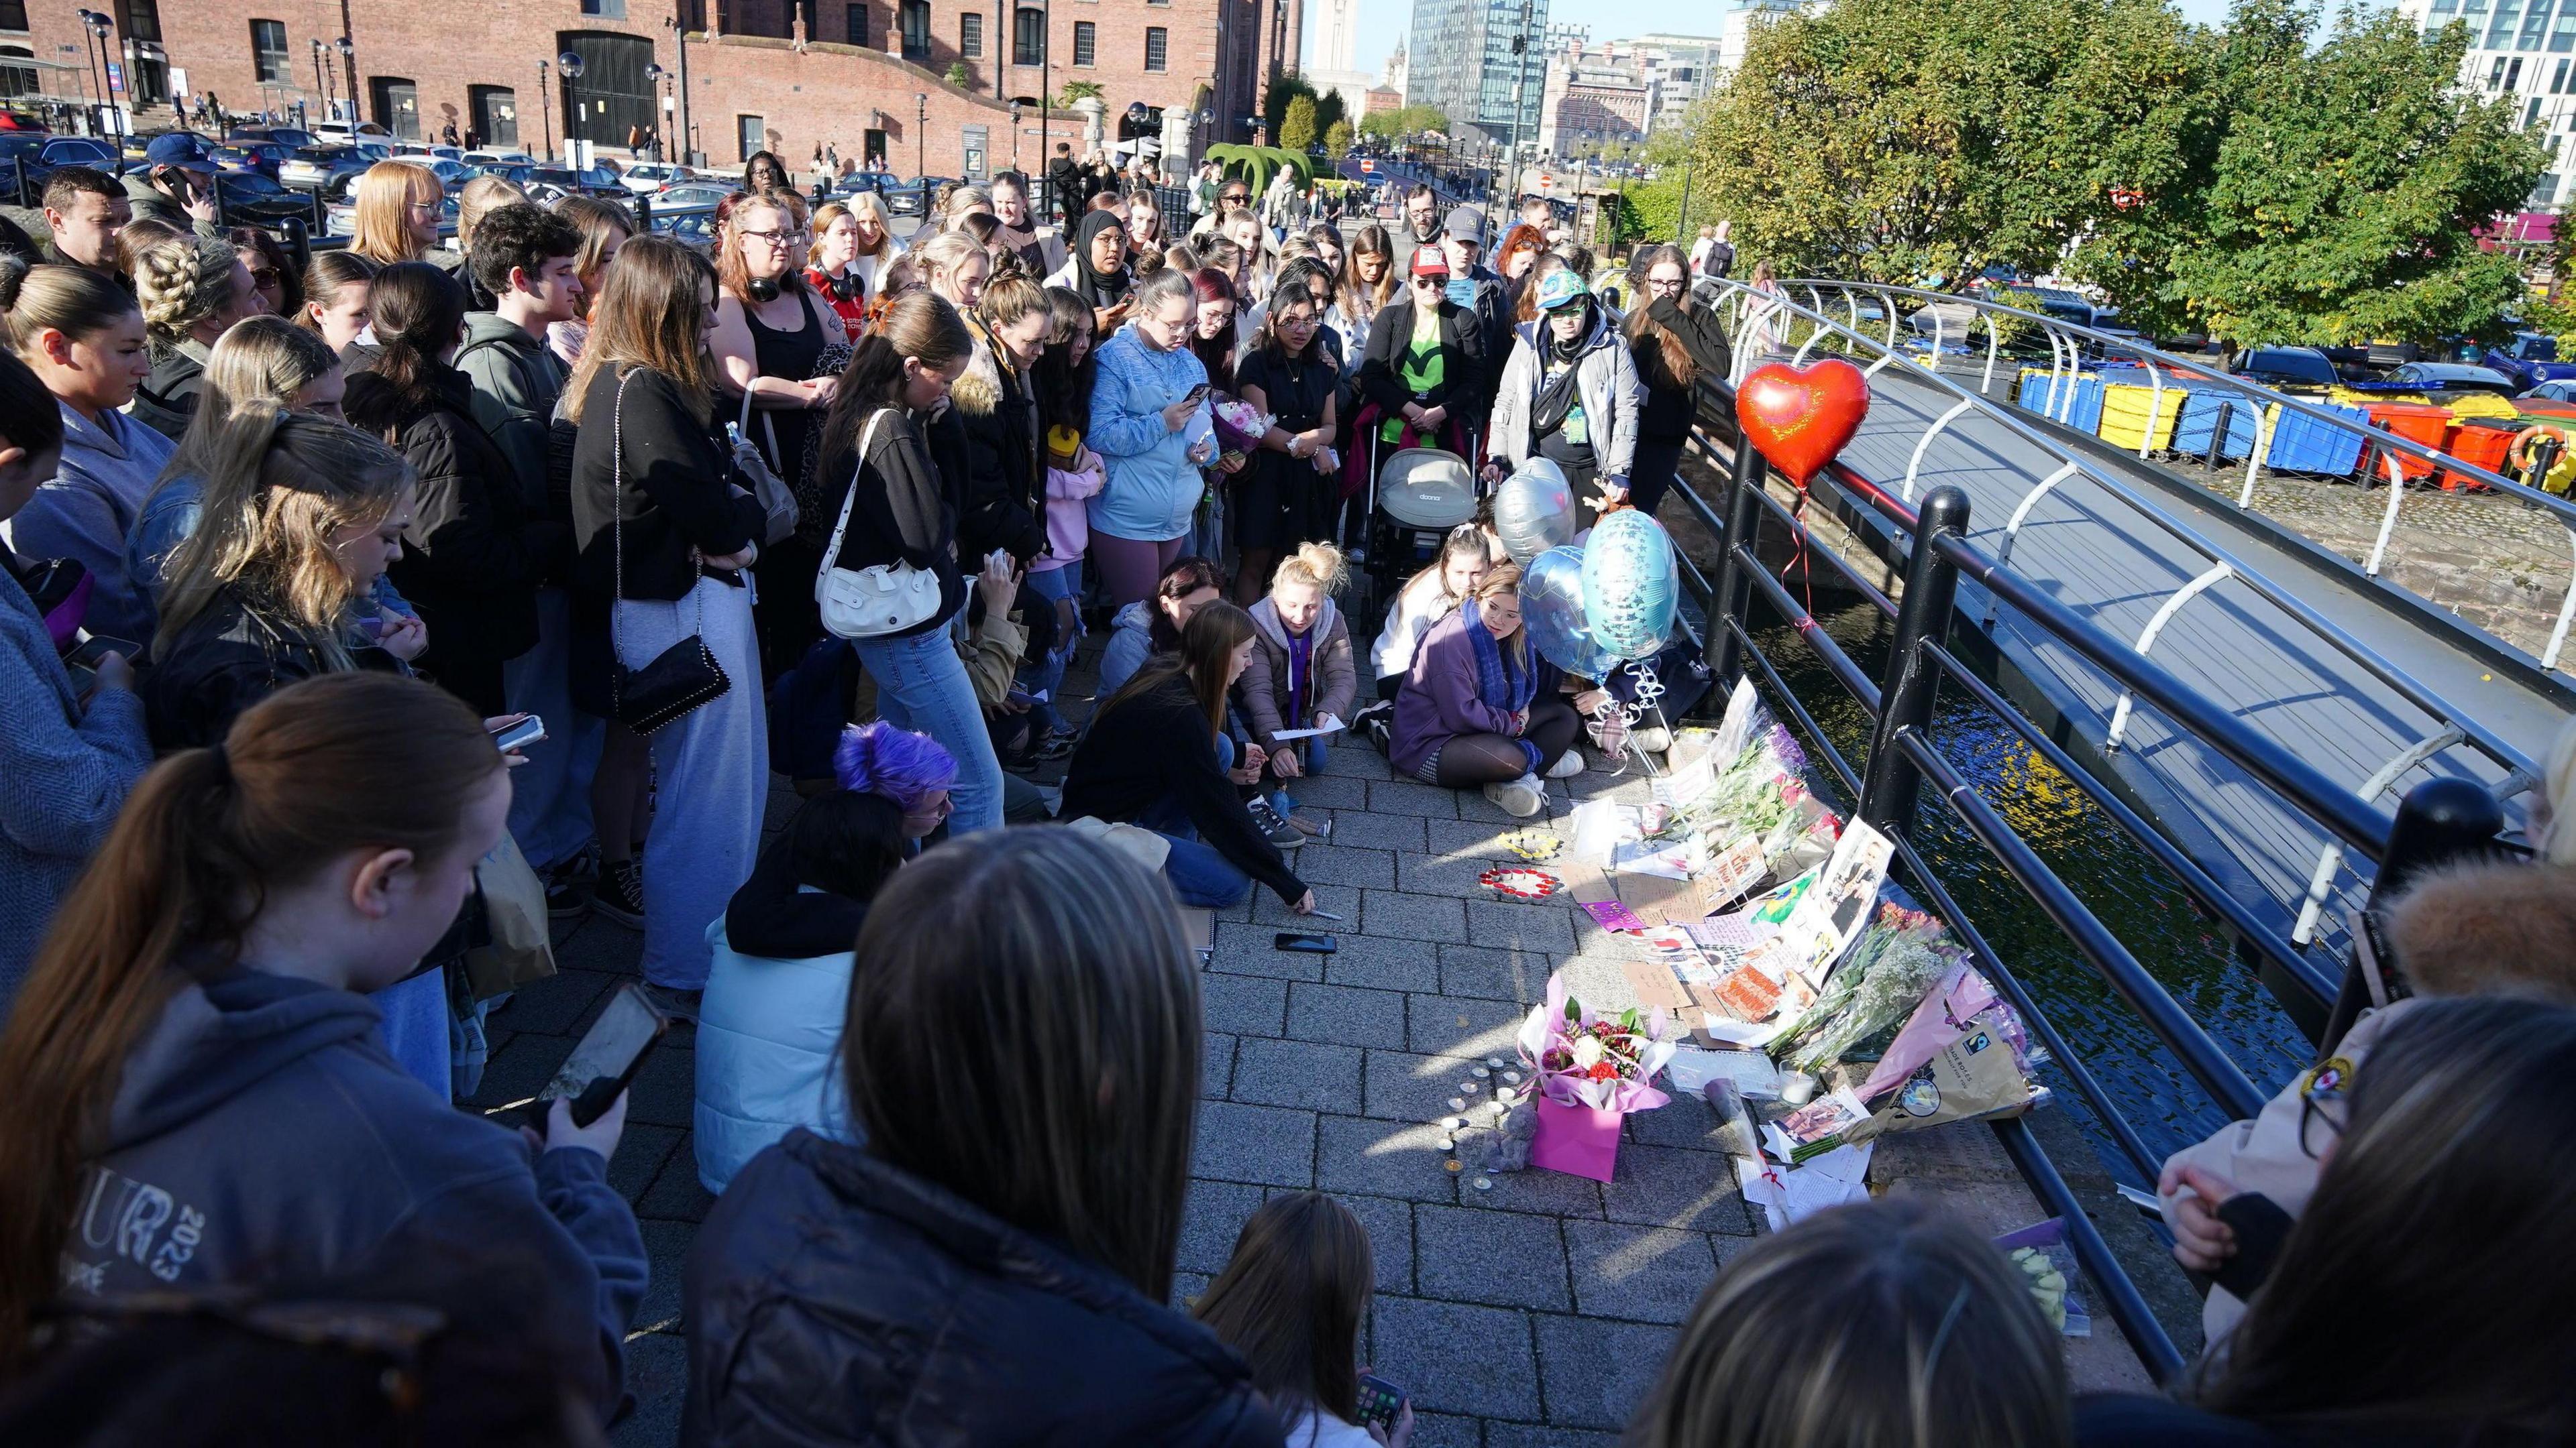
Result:
M688 1257L680 1443L1275 1448L1213 1332L858 1147L791 1131Z

